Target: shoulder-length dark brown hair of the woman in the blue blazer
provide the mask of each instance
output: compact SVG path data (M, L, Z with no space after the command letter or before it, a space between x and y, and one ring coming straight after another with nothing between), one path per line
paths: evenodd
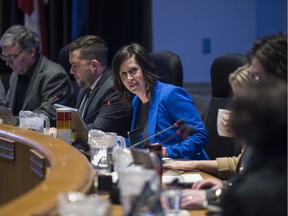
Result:
M120 48L112 60L114 87L120 98L128 104L130 104L131 94L123 85L119 72L121 64L132 57L142 70L144 81L146 82L147 95L150 95L153 91L154 84L158 79L156 66L150 58L149 52L144 47L140 44L132 43Z

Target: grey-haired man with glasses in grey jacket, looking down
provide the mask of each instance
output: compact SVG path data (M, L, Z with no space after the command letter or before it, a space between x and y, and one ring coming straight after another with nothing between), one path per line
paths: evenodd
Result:
M43 105L37 111L47 115L54 126L53 103L70 105L73 94L68 74L62 66L40 54L39 36L24 26L11 26L3 34L0 46L1 58L13 70L7 93L7 103L13 114L18 116L21 110L34 111ZM55 97L57 95L62 96ZM55 100L51 101L52 98Z

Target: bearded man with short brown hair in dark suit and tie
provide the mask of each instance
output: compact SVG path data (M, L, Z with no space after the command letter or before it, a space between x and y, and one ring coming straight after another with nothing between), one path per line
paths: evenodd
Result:
M68 50L70 73L81 87L76 108L88 130L98 129L126 136L131 112L114 90L105 41L95 35L86 35L69 44Z

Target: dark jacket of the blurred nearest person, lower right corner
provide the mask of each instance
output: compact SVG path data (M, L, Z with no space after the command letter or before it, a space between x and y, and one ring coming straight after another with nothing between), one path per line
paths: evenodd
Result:
M287 152L252 153L246 171L223 195L222 215L287 215Z

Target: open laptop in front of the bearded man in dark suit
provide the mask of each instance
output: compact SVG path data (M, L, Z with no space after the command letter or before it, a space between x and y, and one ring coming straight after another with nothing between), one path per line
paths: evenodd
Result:
M61 104L54 104L55 108L68 108L71 110L71 130L76 135L77 140L79 140L83 144L88 143L88 128L86 127L86 123L82 118L81 114L78 112L78 109L64 106Z

